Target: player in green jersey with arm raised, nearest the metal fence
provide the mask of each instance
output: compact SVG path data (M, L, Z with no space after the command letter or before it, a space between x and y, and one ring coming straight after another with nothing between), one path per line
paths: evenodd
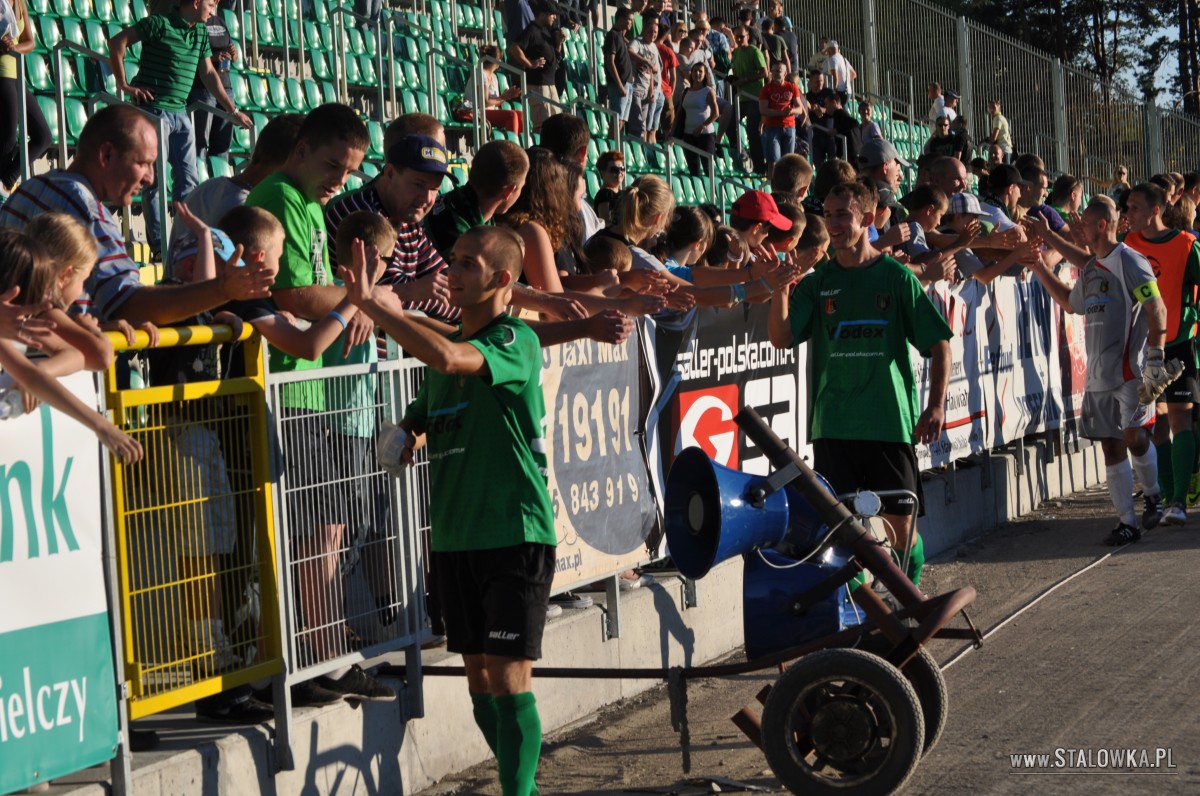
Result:
M446 270L462 324L443 335L374 288L378 252L356 241L342 269L350 300L428 365L401 423L428 439L432 550L446 646L463 657L475 723L496 754L504 796L535 794L541 719L533 662L541 657L554 576L554 514L546 486L541 345L510 317L524 262L521 239L473 227Z

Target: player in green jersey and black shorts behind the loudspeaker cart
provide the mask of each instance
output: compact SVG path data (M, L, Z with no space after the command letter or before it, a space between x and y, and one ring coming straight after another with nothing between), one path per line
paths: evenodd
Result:
M835 186L824 220L835 258L772 295L769 333L776 348L809 341L809 438L815 468L839 493L906 490L889 496L883 519L894 550L919 583L925 553L913 531L920 475L913 443L942 435L950 372L950 328L913 273L880 253L866 237L870 190ZM918 414L910 346L930 360L929 394Z

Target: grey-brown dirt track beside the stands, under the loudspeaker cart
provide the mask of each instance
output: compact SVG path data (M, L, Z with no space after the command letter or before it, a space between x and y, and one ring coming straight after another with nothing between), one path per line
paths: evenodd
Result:
M973 585L972 618L992 635L966 654L958 642L930 647L950 664L949 720L906 794L1200 792L1200 513L1115 555L1100 543L1112 525L1105 492L1092 490L931 563L923 588ZM762 753L730 723L772 680L690 683L690 773L656 688L548 737L539 788L546 796L739 792L738 784L779 792ZM1110 749L1130 748L1151 761L1168 750L1175 767L1099 767ZM1016 770L1016 754L1049 760ZM426 791L499 792L494 761Z

